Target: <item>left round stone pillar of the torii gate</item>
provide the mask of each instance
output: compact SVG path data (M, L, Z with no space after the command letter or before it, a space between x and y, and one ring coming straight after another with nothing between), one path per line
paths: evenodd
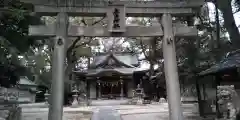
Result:
M62 120L64 97L65 47L68 30L68 15L60 12L56 22L56 40L53 52L51 102L48 120Z

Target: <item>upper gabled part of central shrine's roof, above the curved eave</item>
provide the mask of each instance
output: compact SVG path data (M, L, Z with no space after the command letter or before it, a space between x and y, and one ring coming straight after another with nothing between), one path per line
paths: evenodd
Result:
M93 58L93 62L90 68L102 68L102 66L107 65L110 60L124 66L126 68L134 68L139 65L138 57L136 54L131 53L106 53L99 54Z

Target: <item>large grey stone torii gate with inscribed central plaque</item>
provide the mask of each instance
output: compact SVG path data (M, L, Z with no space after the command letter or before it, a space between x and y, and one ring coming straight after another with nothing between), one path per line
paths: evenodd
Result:
M68 36L86 37L153 37L163 36L163 56L170 120L183 120L180 100L174 37L197 36L197 29L175 26L172 15L193 15L204 0L105 1L89 0L21 0L34 5L39 15L57 16L49 26L30 26L30 36L56 37L53 57L52 102L49 120L62 120L64 60ZM108 26L81 27L68 23L68 16L105 16ZM127 17L162 17L162 26L126 26ZM163 28L163 30L162 30Z

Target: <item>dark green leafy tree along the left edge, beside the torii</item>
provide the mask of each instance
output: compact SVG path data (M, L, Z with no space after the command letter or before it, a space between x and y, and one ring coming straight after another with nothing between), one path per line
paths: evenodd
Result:
M1 85L5 87L15 85L19 76L25 74L18 56L33 45L32 39L27 36L28 26L39 23L26 9L29 9L29 5L17 0L10 1L0 9Z

